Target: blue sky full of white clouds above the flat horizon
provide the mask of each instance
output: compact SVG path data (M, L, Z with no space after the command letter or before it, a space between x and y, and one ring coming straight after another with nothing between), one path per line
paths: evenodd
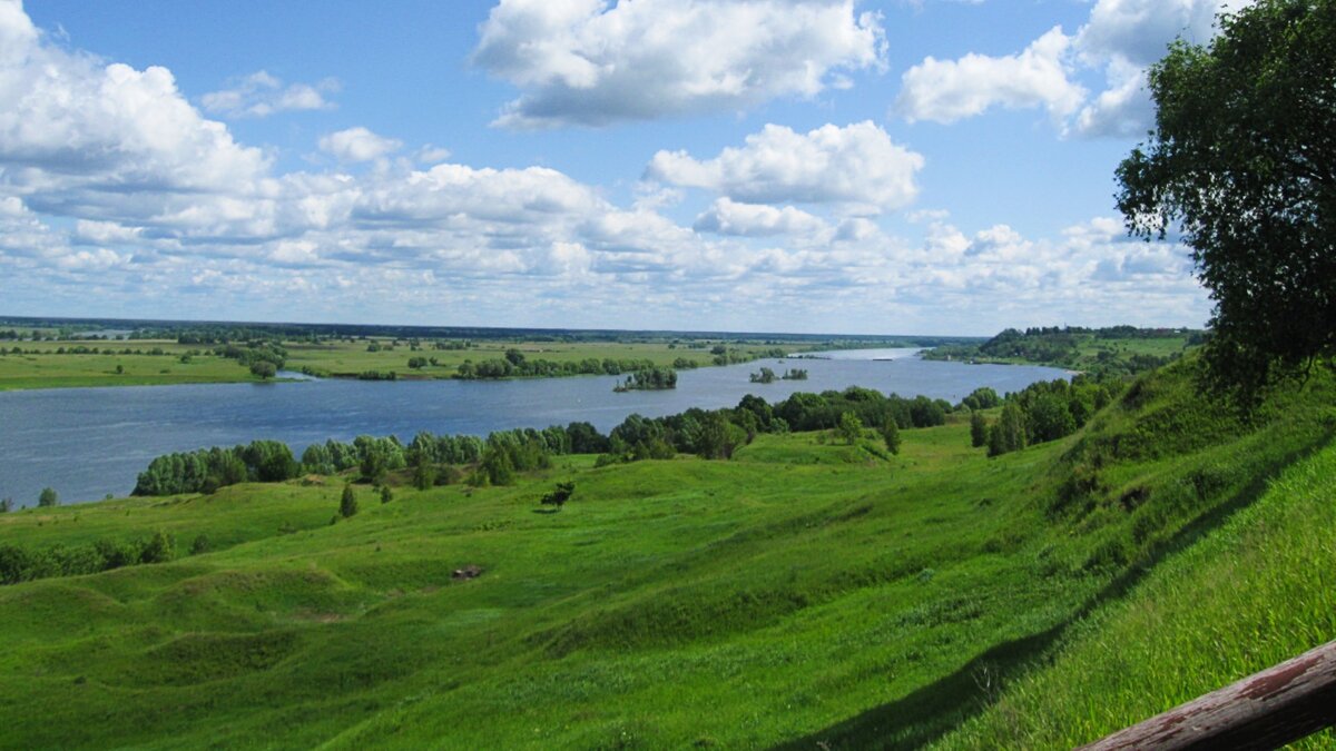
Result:
M1229 5L0 0L0 314L1200 326L1113 170Z

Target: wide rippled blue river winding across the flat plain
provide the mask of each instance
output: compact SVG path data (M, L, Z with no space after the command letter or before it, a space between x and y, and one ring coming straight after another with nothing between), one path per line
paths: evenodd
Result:
M607 433L628 414L675 414L735 406L745 394L774 404L794 392L866 386L953 404L979 386L1015 392L1065 378L1053 367L918 359L918 350L848 350L830 359L766 359L681 370L669 392L613 393L619 378L528 381L342 381L115 386L0 392L0 497L36 505L51 486L61 502L124 496L159 454L285 441L297 456L311 442L359 434L410 440L418 430L485 436L508 428L588 421ZM751 384L762 366L803 367L807 381Z

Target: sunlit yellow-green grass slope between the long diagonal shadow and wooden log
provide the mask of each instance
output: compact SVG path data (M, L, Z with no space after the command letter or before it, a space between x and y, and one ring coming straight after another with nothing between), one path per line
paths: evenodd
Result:
M1336 448L1074 629L945 748L1071 747L1336 637ZM1336 731L1297 744L1336 747Z

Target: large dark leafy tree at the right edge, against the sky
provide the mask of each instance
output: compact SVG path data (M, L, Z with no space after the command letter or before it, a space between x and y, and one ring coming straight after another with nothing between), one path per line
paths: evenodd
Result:
M1205 382L1242 406L1336 359L1336 3L1260 0L1150 69L1148 143L1118 166L1144 238L1181 231L1216 303Z

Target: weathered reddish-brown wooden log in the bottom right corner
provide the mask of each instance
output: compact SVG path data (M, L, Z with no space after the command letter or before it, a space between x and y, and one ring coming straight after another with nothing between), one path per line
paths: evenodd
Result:
M1082 746L1277 748L1336 724L1336 641Z

